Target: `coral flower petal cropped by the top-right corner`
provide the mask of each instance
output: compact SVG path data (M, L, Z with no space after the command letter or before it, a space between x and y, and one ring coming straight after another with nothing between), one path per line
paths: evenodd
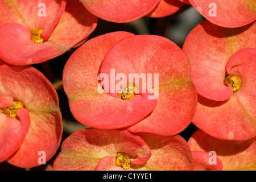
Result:
M242 27L256 19L255 1L189 0L189 2L204 18L217 26Z

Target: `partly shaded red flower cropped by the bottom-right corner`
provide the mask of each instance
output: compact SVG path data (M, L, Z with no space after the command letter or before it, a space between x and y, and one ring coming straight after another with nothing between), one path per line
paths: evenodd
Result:
M198 130L189 138L188 145L197 171L256 169L256 138L244 141L220 140Z

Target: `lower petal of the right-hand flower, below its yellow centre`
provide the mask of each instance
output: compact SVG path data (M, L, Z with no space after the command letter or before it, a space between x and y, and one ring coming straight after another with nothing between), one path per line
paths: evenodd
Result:
M199 96L192 123L218 139L253 138L256 135L255 107L251 109L247 104L250 100L243 93L239 93L239 96L238 93L234 94L228 101L213 101Z

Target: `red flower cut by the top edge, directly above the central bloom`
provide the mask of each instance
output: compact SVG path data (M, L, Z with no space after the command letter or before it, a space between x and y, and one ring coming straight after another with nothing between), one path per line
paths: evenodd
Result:
M183 6L178 0L130 0L130 1L94 1L82 0L90 13L109 22L127 23L150 16L160 18L175 13Z

